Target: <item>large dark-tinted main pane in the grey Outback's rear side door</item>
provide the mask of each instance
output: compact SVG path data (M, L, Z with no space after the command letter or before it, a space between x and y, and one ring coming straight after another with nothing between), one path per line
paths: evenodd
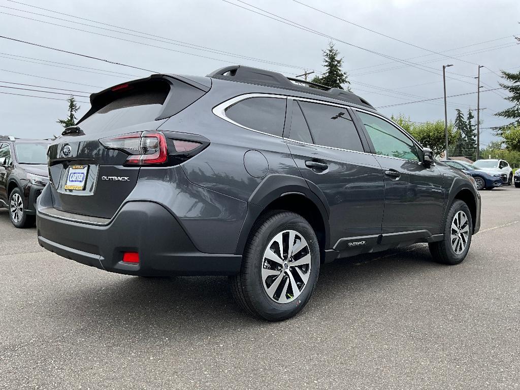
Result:
M359 134L345 108L301 101L316 145L362 152Z

